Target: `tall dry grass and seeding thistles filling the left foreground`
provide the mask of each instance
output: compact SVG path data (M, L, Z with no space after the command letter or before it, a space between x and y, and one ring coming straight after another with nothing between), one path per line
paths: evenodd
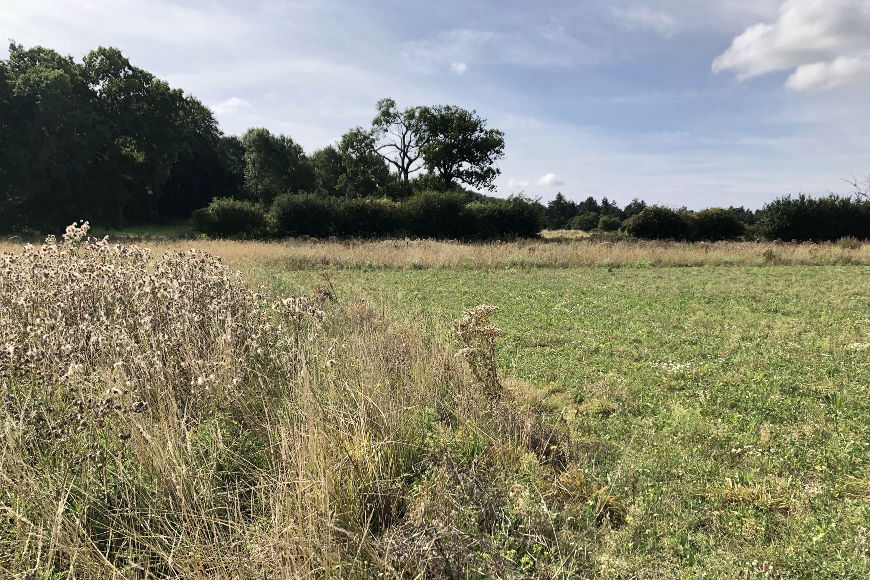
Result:
M572 577L625 517L501 386L492 309L454 345L86 234L0 257L4 575Z

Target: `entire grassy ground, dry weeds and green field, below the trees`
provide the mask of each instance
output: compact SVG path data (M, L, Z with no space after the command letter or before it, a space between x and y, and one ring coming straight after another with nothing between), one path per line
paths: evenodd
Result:
M4 258L0 571L870 576L867 246L191 244Z

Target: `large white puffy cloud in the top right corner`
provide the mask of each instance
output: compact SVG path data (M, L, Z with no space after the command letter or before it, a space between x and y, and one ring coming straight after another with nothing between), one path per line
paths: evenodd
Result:
M790 90L825 90L867 77L870 0L786 0L773 24L753 24L713 61L739 80L794 70Z

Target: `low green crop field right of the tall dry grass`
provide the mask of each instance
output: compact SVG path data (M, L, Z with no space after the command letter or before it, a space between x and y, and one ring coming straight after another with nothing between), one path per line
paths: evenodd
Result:
M297 292L318 280L259 276ZM499 306L505 383L564 421L584 469L625 505L583 546L596 576L870 574L870 269L331 277L345 299L407 317Z

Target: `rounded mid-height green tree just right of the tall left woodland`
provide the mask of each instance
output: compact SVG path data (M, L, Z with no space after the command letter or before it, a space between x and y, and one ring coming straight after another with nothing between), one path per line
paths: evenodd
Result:
M268 206L281 194L315 189L311 163L291 137L275 136L264 128L249 129L242 144L245 189L253 201Z

